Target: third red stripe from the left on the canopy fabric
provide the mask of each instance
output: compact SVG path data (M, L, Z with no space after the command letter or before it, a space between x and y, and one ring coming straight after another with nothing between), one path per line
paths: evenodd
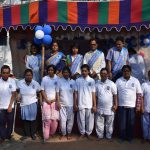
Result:
M88 24L98 24L98 3L88 3Z

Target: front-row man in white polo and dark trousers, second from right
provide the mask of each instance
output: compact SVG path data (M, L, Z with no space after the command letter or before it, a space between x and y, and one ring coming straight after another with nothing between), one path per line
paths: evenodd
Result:
M138 79L131 76L131 67L124 65L122 68L123 77L116 81L118 89L118 115L120 140L133 140L135 109L140 111L141 86Z

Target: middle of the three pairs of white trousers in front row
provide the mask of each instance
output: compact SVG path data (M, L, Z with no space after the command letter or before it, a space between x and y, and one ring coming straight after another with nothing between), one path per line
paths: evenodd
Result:
M90 135L94 128L94 113L91 109L82 109L77 113L77 123L81 135Z

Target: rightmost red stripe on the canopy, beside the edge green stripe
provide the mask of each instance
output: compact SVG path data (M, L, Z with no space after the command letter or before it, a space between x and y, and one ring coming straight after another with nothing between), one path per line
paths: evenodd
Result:
M142 21L142 0L131 0L131 23Z

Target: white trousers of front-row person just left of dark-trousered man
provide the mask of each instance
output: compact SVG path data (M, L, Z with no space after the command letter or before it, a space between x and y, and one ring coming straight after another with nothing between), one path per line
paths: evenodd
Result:
M104 130L106 130L106 138L111 139L113 133L114 115L96 114L96 134L98 138L104 137Z

